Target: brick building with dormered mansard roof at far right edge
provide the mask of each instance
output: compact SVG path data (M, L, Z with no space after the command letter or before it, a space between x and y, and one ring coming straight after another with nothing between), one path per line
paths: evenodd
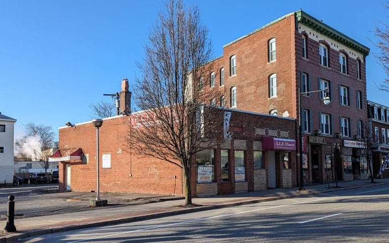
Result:
M372 160L374 177L389 153L389 107L368 101L368 128L372 136ZM389 167L378 178L388 178Z

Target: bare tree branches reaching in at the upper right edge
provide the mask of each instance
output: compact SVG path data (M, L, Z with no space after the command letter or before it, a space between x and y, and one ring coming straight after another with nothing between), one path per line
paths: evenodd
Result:
M389 5L383 5L386 9L389 9ZM377 58L377 62L381 65L386 75L389 76L389 25L380 21L380 26L375 26L374 36L378 38L374 46L379 50L378 53L373 53L373 56ZM389 79L385 78L385 84L380 85L378 88L385 92L389 92Z

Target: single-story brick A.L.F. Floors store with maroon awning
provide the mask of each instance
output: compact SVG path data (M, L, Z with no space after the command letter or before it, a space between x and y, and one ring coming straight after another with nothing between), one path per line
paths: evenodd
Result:
M297 186L295 119L232 109L225 112L231 116L220 133L228 130L231 139L193 157L192 195ZM131 134L129 124L137 129L139 114L103 119L99 129L101 191L184 194L179 161L174 165L139 157L125 142L125 134ZM96 128L91 121L59 128L59 143L49 160L59 161L60 190L95 190Z

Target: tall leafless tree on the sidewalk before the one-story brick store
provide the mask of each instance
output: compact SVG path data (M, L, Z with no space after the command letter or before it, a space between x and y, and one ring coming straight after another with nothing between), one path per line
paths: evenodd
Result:
M141 128L132 128L127 142L140 155L179 163L185 205L192 204L192 156L222 138L223 112L212 107L221 93L209 88L214 82L208 64L211 46L197 7L185 8L182 0L165 1L143 62L138 63L141 77L134 86L134 102L142 110L135 119Z

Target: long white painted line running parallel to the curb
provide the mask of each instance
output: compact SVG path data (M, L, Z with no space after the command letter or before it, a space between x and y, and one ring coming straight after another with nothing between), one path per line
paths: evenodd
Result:
M82 241L89 241L89 240L93 240L93 239L112 237L112 236L117 236L117 235L121 235L121 234L134 233L134 232L139 232L139 231L146 231L146 230L150 230L150 229L157 229L157 228L162 228L162 227L168 227L168 226L174 226L174 225L192 223L192 222L203 221L203 220L208 220L208 219L215 219L215 218L221 218L221 217L226 217L226 216L231 216L231 215L237 215L237 214L252 213L252 212L256 212L256 211L262 211L262 210L267 210L267 209L275 209L275 208L280 208L280 207L285 207L285 206L291 206L291 205L306 204L306 203L311 203L312 201L320 201L320 200L324 200L324 199L326 199L326 198L320 198L320 199L316 199L316 200L303 201L303 202L294 203L294 204L278 205L278 206L273 206L273 207L268 207L268 208L263 208L263 209L256 209L256 210L250 210L250 211L239 212L239 213L232 213L232 214L218 215L218 216L207 217L207 218L200 218L200 219L187 220L187 221L182 221L182 222L177 222L177 223L172 223L172 224L162 224L162 225L157 225L157 226L150 227L150 228L142 228L142 229L130 230L130 231L120 232L120 233L116 233L116 234L102 235L102 236L93 237L93 238L88 238L88 239L79 239L79 240L75 240L75 241L70 241L69 243L76 243L76 242L82 242Z

